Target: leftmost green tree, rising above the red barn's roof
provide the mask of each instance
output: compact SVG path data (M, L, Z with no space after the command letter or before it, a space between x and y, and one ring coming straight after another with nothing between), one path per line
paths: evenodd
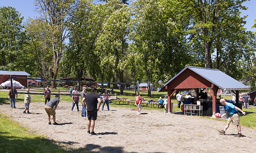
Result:
M0 70L18 70L17 56L23 48L23 17L13 7L0 7ZM24 69L21 69L24 70Z

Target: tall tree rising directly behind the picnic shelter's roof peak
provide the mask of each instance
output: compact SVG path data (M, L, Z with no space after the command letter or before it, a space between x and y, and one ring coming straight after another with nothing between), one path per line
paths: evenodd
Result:
M239 17L239 10L245 10L242 3L246 0L183 0L184 7L187 7L191 18L191 40L193 46L205 55L205 67L212 68L211 54L214 52L213 45L217 37L217 28L230 29ZM235 16L235 17L234 17ZM218 23L230 20L223 26ZM242 20L242 18L240 18ZM241 23L241 22L238 22Z

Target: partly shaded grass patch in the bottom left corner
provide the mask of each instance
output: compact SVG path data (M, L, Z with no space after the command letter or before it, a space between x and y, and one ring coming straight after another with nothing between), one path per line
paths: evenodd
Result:
M68 150L0 113L0 153L71 153Z

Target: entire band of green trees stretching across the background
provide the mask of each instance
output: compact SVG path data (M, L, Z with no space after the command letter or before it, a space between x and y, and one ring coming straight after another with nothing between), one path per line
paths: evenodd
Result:
M151 83L166 83L189 65L219 69L256 88L256 36L240 12L246 0L100 1L35 0L41 16L24 24L13 7L0 7L0 70L139 80L151 97Z

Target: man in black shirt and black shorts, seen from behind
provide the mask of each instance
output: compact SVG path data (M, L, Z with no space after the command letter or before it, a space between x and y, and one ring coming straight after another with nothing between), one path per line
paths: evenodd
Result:
M91 134L91 135L97 135L94 132L95 120L97 119L98 110L100 109L102 104L100 96L96 93L97 93L97 88L92 87L91 93L86 94L85 101L82 101L83 106L87 109L87 118L88 118L87 134ZM98 103L98 107L97 107L97 103ZM90 128L91 128L91 132L90 132Z

